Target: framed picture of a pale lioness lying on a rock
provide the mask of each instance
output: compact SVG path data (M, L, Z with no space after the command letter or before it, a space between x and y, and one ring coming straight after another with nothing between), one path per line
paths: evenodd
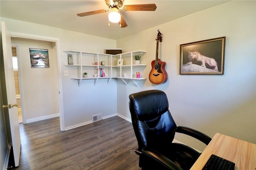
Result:
M180 74L223 75L226 37L180 45Z

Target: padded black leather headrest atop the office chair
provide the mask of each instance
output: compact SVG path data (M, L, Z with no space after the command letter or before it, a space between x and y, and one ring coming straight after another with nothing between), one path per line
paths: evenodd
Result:
M138 120L148 121L155 119L168 111L168 99L161 90L147 90L129 95L130 112Z

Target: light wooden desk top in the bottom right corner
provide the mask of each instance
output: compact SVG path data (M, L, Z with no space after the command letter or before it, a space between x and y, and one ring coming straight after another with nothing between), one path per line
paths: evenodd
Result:
M256 144L216 133L190 170L202 170L212 154L236 164L235 170L256 170Z

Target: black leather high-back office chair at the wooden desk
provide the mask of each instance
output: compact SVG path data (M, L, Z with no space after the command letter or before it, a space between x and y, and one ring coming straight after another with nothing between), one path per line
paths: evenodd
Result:
M187 170L200 153L180 143L172 143L176 132L194 137L206 145L212 140L194 129L176 126L168 109L168 99L160 90L148 90L129 96L132 125L138 141L142 170Z

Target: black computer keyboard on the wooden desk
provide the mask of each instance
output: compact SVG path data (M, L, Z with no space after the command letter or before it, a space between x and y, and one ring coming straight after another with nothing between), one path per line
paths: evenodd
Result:
M202 170L234 170L235 163L212 154Z

